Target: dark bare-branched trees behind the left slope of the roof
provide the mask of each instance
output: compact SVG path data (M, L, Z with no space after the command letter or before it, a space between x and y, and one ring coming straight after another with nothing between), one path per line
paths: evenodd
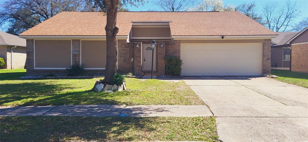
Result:
M0 25L20 34L62 11L92 11L91 0L7 0L0 8Z

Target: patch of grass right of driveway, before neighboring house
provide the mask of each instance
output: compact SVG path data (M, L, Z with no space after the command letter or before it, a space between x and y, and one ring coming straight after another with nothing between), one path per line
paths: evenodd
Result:
M276 80L308 88L308 74L290 72L288 70L272 70L271 75L277 75Z

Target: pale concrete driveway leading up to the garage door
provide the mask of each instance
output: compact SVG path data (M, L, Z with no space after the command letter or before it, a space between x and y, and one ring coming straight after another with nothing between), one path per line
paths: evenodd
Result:
M223 142L307 142L308 89L265 77L184 77Z

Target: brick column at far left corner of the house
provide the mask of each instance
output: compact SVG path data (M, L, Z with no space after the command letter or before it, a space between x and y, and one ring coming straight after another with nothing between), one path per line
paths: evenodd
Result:
M26 45L27 45L26 75L29 76L34 74L33 39L27 39Z

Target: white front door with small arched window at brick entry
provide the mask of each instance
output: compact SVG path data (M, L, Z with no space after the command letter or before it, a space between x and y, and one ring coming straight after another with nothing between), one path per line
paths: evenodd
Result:
M142 71L152 71L152 46L142 45ZM153 71L156 71L156 48L154 49Z

